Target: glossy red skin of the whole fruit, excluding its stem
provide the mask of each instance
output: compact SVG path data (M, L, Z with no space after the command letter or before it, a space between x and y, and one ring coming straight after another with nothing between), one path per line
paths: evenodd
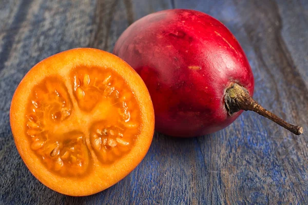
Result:
M254 77L234 35L217 19L194 10L149 14L129 26L113 53L145 81L156 130L192 137L221 130L242 111L229 116L224 104L233 83L252 96Z

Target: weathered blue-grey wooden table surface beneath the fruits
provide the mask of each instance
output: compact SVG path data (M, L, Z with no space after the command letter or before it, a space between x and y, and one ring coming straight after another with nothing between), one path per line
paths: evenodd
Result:
M98 194L70 197L42 185L18 154L9 125L23 76L64 50L111 52L134 20L170 8L196 9L224 23L252 66L255 99L304 134L245 112L202 137L156 133L140 165ZM306 0L0 0L0 204L307 204L307 27Z

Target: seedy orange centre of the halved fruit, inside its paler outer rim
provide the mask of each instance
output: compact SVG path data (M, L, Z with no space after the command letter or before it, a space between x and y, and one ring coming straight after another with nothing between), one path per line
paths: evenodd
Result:
M26 110L30 148L51 172L82 176L109 166L134 146L141 113L134 93L111 69L79 67L67 79L35 85Z

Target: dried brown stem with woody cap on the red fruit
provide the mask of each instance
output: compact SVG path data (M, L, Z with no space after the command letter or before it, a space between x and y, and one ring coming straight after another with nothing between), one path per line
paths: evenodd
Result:
M226 90L225 94L225 105L228 110L229 115L240 110L251 110L254 111L274 122L276 122L281 127L284 127L288 131L300 135L303 133L303 128L299 126L292 125L277 115L269 112L260 106L256 100L254 100L247 92L247 90L238 84L233 84L230 88Z

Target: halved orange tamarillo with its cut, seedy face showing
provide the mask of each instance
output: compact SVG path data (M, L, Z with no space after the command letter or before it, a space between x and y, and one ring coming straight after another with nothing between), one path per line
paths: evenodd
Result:
M16 148L30 172L72 196L100 192L136 168L154 121L141 77L121 58L90 48L36 64L10 109Z

